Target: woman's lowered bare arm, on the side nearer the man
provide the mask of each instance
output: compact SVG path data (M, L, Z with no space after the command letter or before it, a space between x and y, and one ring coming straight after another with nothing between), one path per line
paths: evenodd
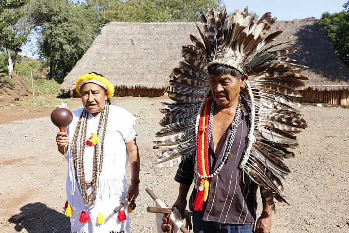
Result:
M126 199L129 202L136 200L139 193L139 171L140 171L140 157L136 138L126 143L126 151L128 154L128 163L131 170L131 183L127 190Z

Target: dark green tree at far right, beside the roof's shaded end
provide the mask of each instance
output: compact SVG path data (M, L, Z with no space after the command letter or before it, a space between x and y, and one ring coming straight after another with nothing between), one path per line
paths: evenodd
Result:
M347 7L349 2L346 3ZM344 7L346 6L344 5ZM330 14L325 12L318 20L334 52L349 67L349 11Z

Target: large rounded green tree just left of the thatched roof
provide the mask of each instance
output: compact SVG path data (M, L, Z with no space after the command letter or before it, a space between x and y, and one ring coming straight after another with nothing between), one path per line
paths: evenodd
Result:
M32 17L39 32L39 55L50 61L50 77L69 72L99 33L99 22L86 5L68 0L36 0Z

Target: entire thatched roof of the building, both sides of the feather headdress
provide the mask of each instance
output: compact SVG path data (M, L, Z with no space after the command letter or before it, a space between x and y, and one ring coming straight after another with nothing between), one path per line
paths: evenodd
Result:
M291 57L310 67L306 85L317 89L349 87L349 68L335 55L316 19L277 21L273 31L283 30L284 47L298 50ZM76 66L65 77L61 90L75 89L80 75L95 71L111 83L128 88L167 86L172 69L182 60L181 48L198 36L194 22L111 22ZM150 84L156 83L156 84Z

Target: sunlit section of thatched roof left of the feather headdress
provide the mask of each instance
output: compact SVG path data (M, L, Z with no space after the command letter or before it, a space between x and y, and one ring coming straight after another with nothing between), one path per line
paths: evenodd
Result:
M93 71L128 88L167 87L190 33L199 36L193 22L111 22L65 77L61 90L74 90L79 76Z

